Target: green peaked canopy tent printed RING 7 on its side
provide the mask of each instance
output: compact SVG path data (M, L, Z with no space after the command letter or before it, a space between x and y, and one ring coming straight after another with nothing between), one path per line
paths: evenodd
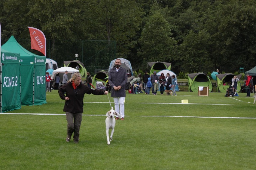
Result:
M13 53L20 53L21 104L41 105L46 103L46 57L26 50L15 40L14 36L11 36L2 45L2 49Z

